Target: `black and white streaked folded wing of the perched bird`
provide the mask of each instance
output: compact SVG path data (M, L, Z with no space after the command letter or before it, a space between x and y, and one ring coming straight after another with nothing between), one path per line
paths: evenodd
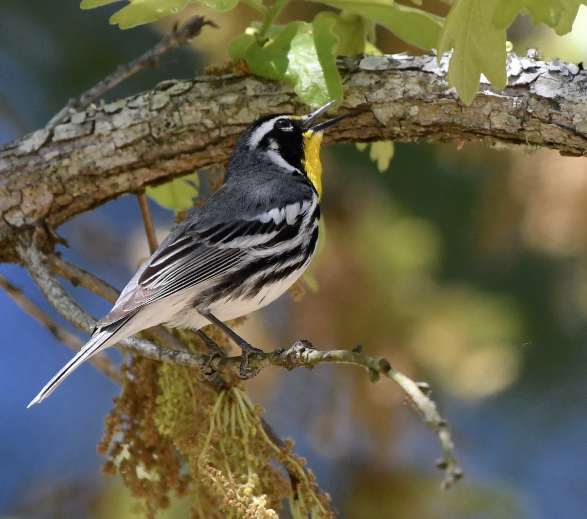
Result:
M110 325L145 305L195 285L215 282L227 275L238 277L239 271L255 258L290 250L299 240L303 225L316 216L314 205L306 200L254 217L249 215L247 219L227 218L213 225L184 221L131 279L98 326ZM316 237L317 233L316 227Z

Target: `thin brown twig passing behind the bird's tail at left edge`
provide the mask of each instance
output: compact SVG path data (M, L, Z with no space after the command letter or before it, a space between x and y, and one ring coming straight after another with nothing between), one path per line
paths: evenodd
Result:
M23 293L22 290L18 287L15 287L11 282L9 282L6 278L0 275L0 287L4 288L6 294L11 296L11 298L21 306L21 308L39 321L46 329L49 330L55 336L58 341L63 342L65 345L72 348L74 351L79 351L80 348L83 346L83 342L77 338L76 335L69 332L59 323L53 321L45 312L42 311L37 305L35 305L30 299L28 299ZM116 383L122 383L123 377L120 373L120 370L115 368L110 361L110 359L99 353L98 355L93 356L89 359L89 362L100 372L104 373L109 379L113 380Z

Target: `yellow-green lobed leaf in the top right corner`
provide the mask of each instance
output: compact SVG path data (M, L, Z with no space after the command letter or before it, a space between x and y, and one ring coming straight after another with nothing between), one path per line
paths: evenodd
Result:
M571 32L581 0L500 0L492 21L496 28L507 29L515 17L532 16L534 25L545 23L559 36Z

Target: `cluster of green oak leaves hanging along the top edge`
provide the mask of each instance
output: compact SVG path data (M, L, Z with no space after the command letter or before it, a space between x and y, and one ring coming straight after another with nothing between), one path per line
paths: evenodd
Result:
M116 0L82 0L82 9ZM176 14L188 2L218 11L235 8L238 0L128 0L110 23L122 29ZM503 89L506 29L518 14L530 15L535 25L545 23L558 35L571 31L579 5L585 0L456 0L446 19L420 7L394 0L328 0L336 11L320 12L311 21L276 25L275 20L290 0L242 0L261 16L230 43L233 60L244 60L255 75L291 83L310 106L342 97L342 81L336 57L377 53L375 25L421 49L438 49L438 55L454 49L448 82L469 105L483 74ZM316 0L308 0L316 1ZM268 3L271 0L267 0ZM420 5L421 0L412 0ZM322 3L322 2L321 2Z

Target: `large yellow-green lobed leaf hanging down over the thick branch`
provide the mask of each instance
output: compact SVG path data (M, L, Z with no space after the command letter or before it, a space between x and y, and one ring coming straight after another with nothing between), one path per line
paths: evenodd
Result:
M465 105L473 102L481 73L497 89L507 84L505 29L492 24L500 0L457 0L451 8L438 42L438 58L454 45L448 67L448 84L457 88Z

